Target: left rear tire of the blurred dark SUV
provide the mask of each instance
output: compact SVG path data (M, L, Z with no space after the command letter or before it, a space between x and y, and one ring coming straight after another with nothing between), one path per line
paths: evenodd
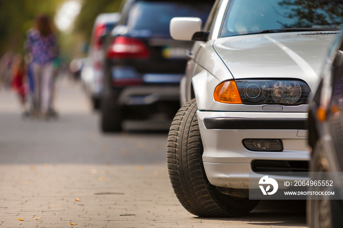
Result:
M103 97L101 101L100 127L102 132L122 131L123 111L115 97Z

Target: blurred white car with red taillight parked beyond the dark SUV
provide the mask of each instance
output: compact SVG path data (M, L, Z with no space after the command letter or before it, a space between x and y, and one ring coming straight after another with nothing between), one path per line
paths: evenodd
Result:
M100 107L103 91L104 37L119 20L120 13L102 13L94 23L88 58L82 68L81 78L95 109Z

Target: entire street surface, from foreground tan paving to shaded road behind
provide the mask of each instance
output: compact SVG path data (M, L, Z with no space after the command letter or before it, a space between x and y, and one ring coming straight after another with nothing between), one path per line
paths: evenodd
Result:
M60 116L49 121L23 118L15 94L0 90L0 228L306 227L301 201L261 202L239 218L188 213L166 169L168 122L104 135L80 83L57 89Z

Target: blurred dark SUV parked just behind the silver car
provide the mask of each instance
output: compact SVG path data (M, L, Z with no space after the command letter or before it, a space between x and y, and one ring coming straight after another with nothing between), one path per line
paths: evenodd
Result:
M105 55L100 127L121 131L125 119L162 114L172 120L180 107L179 82L191 41L174 41L169 22L177 16L205 20L214 0L127 0Z

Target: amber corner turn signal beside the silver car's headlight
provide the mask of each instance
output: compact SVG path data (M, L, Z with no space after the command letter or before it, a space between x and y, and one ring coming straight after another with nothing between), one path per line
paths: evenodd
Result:
M234 80L219 84L215 89L214 99L221 103L242 104L242 99Z

